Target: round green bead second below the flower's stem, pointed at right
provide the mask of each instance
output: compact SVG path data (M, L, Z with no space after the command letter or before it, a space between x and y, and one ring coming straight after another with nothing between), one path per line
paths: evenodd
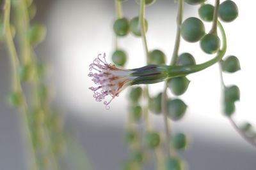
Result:
M187 105L180 99L168 101L168 117L172 120L180 120L185 115Z

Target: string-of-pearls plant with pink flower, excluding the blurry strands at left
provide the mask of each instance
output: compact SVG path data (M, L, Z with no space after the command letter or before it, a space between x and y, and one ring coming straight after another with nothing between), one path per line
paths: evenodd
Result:
M127 0L126 0L127 1ZM240 92L236 85L225 85L223 73L235 73L240 70L237 57L226 56L227 38L221 22L232 22L238 17L238 8L234 1L226 0L209 4L206 0L176 0L177 3L177 32L175 46L170 64L166 65L166 55L158 49L148 50L147 30L151 23L145 18L145 10L155 0L136 0L140 5L138 16L131 20L123 16L122 5L125 0L115 0L116 20L113 31L116 35L115 52L112 54L113 64L108 64L106 55L98 55L90 64L89 76L97 87L91 87L96 101L104 101L106 108L109 103L126 87L129 90L129 118L127 121L127 143L131 146L131 157L124 164L124 169L143 169L150 162L150 154L156 155L155 169L179 170L186 169L184 160L179 157L179 151L186 149L188 140L186 134L174 134L171 122L179 121L184 117L188 105L179 96L184 94L189 87L186 75L202 71L213 64L220 65L221 84L223 89L223 115L225 115L241 136L253 146L256 146L256 133L252 125L246 123L237 125L232 115L235 112L235 103L239 101ZM183 20L184 3L198 6L197 17ZM211 22L210 31L205 30L204 22ZM220 35L218 34L220 32ZM137 69L124 69L127 61L127 52L118 46L118 39L128 34L141 38L143 50L147 60L146 66ZM211 60L196 64L196 59L191 53L179 53L180 38L189 43L198 43L205 55L216 54ZM226 56L226 57L225 57ZM163 92L157 96L150 96L148 84L164 81ZM173 96L168 97L170 89ZM143 99L143 102L141 102ZM163 116L165 132L157 132L152 124L150 114ZM136 124L145 122L145 131L140 131ZM163 149L165 146L165 149ZM152 152L151 152L152 151Z

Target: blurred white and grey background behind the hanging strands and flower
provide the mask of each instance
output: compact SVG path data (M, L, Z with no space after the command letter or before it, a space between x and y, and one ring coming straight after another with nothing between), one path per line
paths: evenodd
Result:
M255 43L252 11L253 1L235 1L239 17L230 24L223 24L227 33L227 55L236 55L241 62L241 71L224 74L227 85L236 84L241 90L237 103L237 122L248 121L254 125L255 115ZM213 3L213 1L209 1ZM115 20L114 1L100 0L36 0L37 14L34 21L47 27L45 41L36 47L40 60L49 64L49 83L54 92L54 104L65 113L65 121L76 132L93 169L120 169L127 159L127 144L124 141L127 118L127 91L125 90L106 110L97 103L88 87L93 86L88 78L88 65L99 53L106 52L111 62L114 50L112 30ZM198 6L184 6L184 19L197 17ZM136 17L139 6L133 0L123 4L124 16ZM146 9L148 20L148 48L160 49L172 55L175 39L176 4L171 0L157 0ZM211 24L206 24L207 30ZM129 54L127 68L145 65L142 41L131 34L118 41ZM8 106L6 96L10 92L10 60L4 44L0 44L0 169L26 169L26 149L19 112ZM181 52L191 52L196 62L211 59L198 43L182 40ZM227 118L221 115L221 90L218 65L202 73L188 76L191 83L188 92L181 98L188 104L182 120L173 123L173 131L189 136L188 150L181 157L191 170L255 169L256 149L242 139L232 128ZM151 85L152 95L163 89L163 83ZM163 129L161 115L152 116L159 131ZM142 126L142 124L141 124ZM154 169L148 166L147 169Z

